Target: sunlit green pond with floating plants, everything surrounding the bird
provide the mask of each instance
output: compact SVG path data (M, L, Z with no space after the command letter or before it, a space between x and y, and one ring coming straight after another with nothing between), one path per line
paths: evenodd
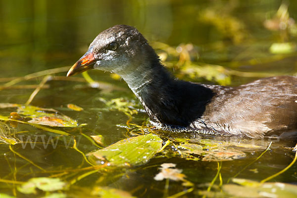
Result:
M294 0L0 0L0 197L296 196L295 134L156 130L118 76L65 77L114 24L136 26L184 80L295 75L296 10Z

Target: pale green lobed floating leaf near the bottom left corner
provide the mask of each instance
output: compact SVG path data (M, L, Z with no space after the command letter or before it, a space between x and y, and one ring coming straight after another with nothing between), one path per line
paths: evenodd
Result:
M18 191L24 194L36 194L36 188L42 191L58 191L63 189L65 182L59 178L37 177L28 180L25 184L18 187Z

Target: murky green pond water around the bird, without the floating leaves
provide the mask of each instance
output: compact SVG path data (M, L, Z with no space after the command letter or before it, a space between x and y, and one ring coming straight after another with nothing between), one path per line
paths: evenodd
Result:
M115 24L137 27L158 53L167 53L165 64L168 69L185 80L234 86L265 75L295 75L297 52L294 45L297 34L293 30L290 32L289 28L273 31L263 25L265 20L275 16L281 3L281 0L0 0L0 83L4 85L14 77L51 68L70 67L85 53L100 31ZM297 20L297 2L289 0L288 3L290 17ZM178 55L159 48L156 42L167 44L172 49L191 43L194 45L193 53L190 53L193 63L202 66L221 65L228 71L243 73L236 75L222 70L209 71L223 80L216 80L215 77L193 77L182 72L185 65L178 65ZM293 47L287 53L271 53L270 47L274 43L291 43ZM220 72L225 73L221 76ZM253 75L246 75L247 73ZM138 109L138 113L132 115L130 123L145 125L148 121L148 116L141 110L140 102L123 80L112 78L109 73L101 71L90 71L89 74L94 80L114 86L111 89L91 88L81 75L75 81L56 78L48 81L46 85L49 87L42 89L30 103L43 108L54 108L77 120L79 124L86 123L86 126L80 128L53 127L70 133L77 141L77 148L85 154L99 149L88 139L90 136L102 136L103 144L98 145L100 147L135 136L131 131L137 127L127 128L129 117L124 110L117 106L108 106L103 100L123 98L123 101L131 102L133 108L130 109ZM60 77L65 75L66 71L54 74ZM38 85L42 79L43 77L33 78L1 89L0 103L24 104L35 88L16 86ZM73 111L67 108L69 103L83 107L84 110ZM8 116L12 111L15 109L3 108L0 109L0 115ZM153 179L162 163L174 163L178 169L183 170L187 180L194 184L191 192L185 193L183 197L201 197L200 192L206 191L217 173L216 161L186 160L178 155L169 157L165 152L175 149L170 145L165 148L165 152L156 154L145 165L125 170L100 170L80 177L88 173L88 169L84 168L90 167L90 164L85 161L82 153L73 148L71 138L66 141L59 139L56 147L52 144L45 147L42 137L47 141L49 137L58 135L28 124L5 124L0 125L1 131L8 127L16 137L24 135L23 141L30 137L31 142L38 142L34 148L29 143L30 140L26 146L24 143L0 144L0 193L10 196L26 198L50 195L51 193L42 191L37 191L35 195L20 193L17 190L20 184L17 182L26 182L35 177L52 177L69 184L69 188L58 191L67 197L96 197L91 195L96 187L115 188L136 197L166 197L190 189L182 186L182 182L170 181L168 186L165 180ZM163 141L167 140L166 137L186 138L191 139L191 143L200 144L200 139L205 138L195 134L157 130L153 132L160 135ZM230 141L258 146L231 146L245 152L246 157L222 162L220 173L223 184L227 184L230 177L255 160L271 141L207 138L222 143ZM281 171L293 160L295 152L292 148L295 143L294 139L273 140L271 148L237 177L261 181ZM75 180L77 182L73 182ZM296 184L297 165L270 182ZM219 183L217 179L212 192L220 192Z

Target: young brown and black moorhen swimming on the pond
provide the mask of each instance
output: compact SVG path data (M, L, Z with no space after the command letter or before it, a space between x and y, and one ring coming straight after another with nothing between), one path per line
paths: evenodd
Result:
M264 78L238 87L177 80L143 35L128 25L101 32L67 76L93 68L120 75L158 127L251 138L297 129L297 77Z

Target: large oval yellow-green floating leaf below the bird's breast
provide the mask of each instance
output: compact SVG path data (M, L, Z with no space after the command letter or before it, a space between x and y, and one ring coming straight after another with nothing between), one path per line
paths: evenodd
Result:
M162 140L153 134L121 140L109 147L89 153L94 164L128 167L148 162L162 148Z

